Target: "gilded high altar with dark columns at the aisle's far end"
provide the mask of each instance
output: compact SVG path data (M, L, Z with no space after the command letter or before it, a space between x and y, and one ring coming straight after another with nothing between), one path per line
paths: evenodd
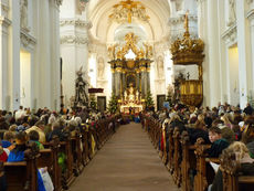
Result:
M113 45L108 47L109 64L113 73L112 89L119 103L121 113L138 113L144 108L145 96L150 91L150 64L152 47L142 43L138 49L137 36L128 33L123 47ZM125 55L133 51L135 59Z

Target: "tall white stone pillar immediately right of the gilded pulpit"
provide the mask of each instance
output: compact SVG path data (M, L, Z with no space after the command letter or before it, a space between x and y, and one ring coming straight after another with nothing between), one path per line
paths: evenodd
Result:
M219 60L218 1L199 0L199 36L204 41L203 94L204 105L216 106L221 100ZM216 75L216 77L214 77Z

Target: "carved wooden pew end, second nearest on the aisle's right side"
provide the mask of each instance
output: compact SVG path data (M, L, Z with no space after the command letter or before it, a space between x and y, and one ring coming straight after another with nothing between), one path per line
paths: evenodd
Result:
M194 190L204 191L208 189L208 185L212 183L214 179L214 170L210 166L210 161L220 163L218 158L208 158L207 149L211 145L204 145L204 141L197 141L195 144L195 157L197 157L197 176L194 177Z

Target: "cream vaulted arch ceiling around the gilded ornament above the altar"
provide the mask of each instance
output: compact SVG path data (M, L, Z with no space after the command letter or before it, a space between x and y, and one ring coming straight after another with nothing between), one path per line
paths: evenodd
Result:
M142 41L160 41L169 34L168 19L170 7L167 0L139 0L150 17L148 22L134 18L131 24L110 21L108 15L113 6L120 0L91 0L88 3L88 19L93 23L91 34L104 43L120 41L127 32L134 32Z

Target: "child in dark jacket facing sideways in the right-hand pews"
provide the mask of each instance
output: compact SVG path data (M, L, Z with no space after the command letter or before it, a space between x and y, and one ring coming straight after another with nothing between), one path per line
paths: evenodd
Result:
M219 127L211 127L209 129L209 139L212 142L211 148L208 149L208 155L211 158L218 158L222 153L222 150L230 145L224 138L222 138L222 131Z

